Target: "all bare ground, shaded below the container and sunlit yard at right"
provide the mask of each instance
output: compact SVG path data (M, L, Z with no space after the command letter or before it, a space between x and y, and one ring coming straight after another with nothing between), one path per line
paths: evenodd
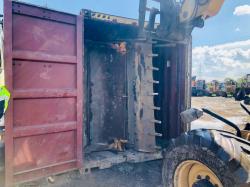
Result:
M229 120L242 124L249 120L247 114L232 98L196 97L192 99L194 108L208 108ZM223 123L204 115L192 124L192 128L223 128ZM54 183L42 180L25 187L162 187L161 161L141 164L121 164L110 169L96 170L80 175L71 172L55 176Z

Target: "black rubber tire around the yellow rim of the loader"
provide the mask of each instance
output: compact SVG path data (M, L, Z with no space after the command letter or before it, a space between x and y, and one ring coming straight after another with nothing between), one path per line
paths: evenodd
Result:
M236 142L234 138L226 138L216 130L205 129L190 131L172 140L164 153L164 187L176 187L175 170L186 160L205 164L217 175L224 187L245 184L248 181L248 172L239 162L240 158L236 158L240 157L241 152Z

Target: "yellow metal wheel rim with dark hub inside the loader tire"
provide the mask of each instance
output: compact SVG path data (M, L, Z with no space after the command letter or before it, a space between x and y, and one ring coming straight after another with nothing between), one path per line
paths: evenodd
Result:
M210 184L214 187L223 187L219 178L206 165L195 160L182 162L175 170L175 187L195 187L199 184ZM209 185L207 185L209 186Z

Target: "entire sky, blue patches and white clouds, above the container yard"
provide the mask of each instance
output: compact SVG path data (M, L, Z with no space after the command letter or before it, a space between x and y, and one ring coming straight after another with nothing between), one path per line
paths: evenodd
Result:
M23 1L74 14L86 8L124 17L138 17L139 0ZM156 3L148 6L155 7ZM2 11L3 3L0 4L0 13ZM194 30L193 48L193 74L200 78L223 80L225 77L239 78L250 73L250 1L225 0L217 16L207 20L204 28Z

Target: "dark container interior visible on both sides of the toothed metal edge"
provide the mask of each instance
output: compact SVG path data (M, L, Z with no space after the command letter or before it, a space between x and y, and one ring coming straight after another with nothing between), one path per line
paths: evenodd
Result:
M134 148L137 137L135 112L136 53L138 27L94 19L84 23L84 85L85 85L85 152L108 149L114 139L127 140L126 146ZM152 71L155 146L161 146L167 139L167 115L170 89L171 48L159 48L151 44L152 64L158 71ZM147 55L147 54L145 54ZM167 74L167 75L166 75ZM143 86L143 84L141 85Z

